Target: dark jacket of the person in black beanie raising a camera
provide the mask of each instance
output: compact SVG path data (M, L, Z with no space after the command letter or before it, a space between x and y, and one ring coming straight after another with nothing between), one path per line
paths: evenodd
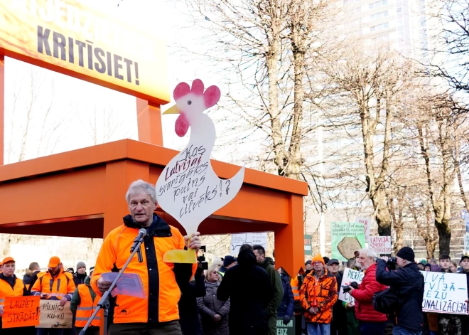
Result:
M416 263L411 263L389 271L384 260L378 260L376 265L376 280L382 285L388 285L397 291L401 308L396 312L397 324L411 331L421 331L424 328L424 275L419 271Z

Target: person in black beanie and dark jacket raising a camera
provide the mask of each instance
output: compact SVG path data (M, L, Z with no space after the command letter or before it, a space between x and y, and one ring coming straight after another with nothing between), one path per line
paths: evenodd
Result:
M389 291L397 297L389 320L395 323L393 335L421 335L424 328L424 276L415 262L414 250L401 248L396 255L397 270L389 270L388 257L377 261L376 280L389 286Z

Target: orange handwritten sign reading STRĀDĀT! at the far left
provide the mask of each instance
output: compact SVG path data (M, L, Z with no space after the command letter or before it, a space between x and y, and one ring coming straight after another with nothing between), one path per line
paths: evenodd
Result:
M39 296L6 297L2 328L37 326L39 324Z

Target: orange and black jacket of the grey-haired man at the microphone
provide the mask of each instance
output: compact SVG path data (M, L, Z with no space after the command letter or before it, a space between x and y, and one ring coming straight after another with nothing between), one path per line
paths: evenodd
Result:
M118 271L124 267L130 255L130 248L139 233L140 225L131 216L124 217L124 225L107 235L97 257L91 286L99 296L97 281L102 273ZM137 254L129 262L125 272L140 276L146 299L117 294L114 306L114 323L165 322L179 319L178 282L188 282L197 269L195 264L173 264L163 262L168 250L184 249L184 238L177 228L168 225L159 216L153 216L153 223L141 245L143 262Z

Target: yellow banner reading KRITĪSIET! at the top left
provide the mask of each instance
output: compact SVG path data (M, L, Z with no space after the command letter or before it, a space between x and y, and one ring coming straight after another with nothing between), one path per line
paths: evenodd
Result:
M164 41L77 0L1 0L0 54L158 104L170 101Z

